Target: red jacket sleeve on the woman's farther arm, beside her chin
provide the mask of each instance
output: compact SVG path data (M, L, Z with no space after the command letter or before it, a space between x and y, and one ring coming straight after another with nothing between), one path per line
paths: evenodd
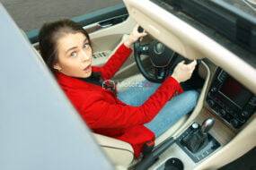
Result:
M102 67L93 66L93 72L101 72L104 80L111 79L122 64L125 63L132 50L122 44L116 52L110 56L110 59Z

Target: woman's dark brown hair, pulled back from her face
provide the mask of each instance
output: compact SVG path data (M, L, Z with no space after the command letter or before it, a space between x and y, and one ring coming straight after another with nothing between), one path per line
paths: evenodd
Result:
M89 45L91 46L91 40L88 33L83 27L71 20L61 20L45 23L40 29L39 34L39 48L40 55L44 62L49 66L51 72L55 72L53 65L57 62L57 40L64 37L68 33L81 32L88 39Z

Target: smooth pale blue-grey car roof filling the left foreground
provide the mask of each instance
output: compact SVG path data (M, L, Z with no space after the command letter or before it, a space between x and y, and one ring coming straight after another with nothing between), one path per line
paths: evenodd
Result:
M112 169L0 4L0 169Z

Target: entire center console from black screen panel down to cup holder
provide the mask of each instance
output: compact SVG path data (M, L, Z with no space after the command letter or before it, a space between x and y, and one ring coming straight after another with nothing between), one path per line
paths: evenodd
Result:
M204 93L209 108L202 110L179 136L153 149L136 169L194 169L234 138L233 130L241 128L255 113L256 96L219 68L211 82Z

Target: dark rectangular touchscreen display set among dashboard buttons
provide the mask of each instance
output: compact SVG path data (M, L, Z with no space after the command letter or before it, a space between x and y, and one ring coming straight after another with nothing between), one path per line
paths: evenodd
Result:
M223 86L220 88L220 92L223 93L226 98L232 100L234 104L240 108L243 108L243 106L252 96L250 91L245 89L242 84L240 84L238 81L235 81L231 77L228 77L225 80Z

